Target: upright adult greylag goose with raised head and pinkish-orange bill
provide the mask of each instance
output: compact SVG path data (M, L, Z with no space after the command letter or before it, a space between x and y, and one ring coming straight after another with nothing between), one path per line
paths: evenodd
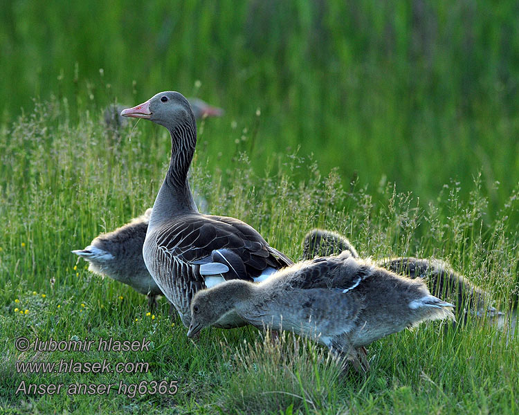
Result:
M188 100L162 92L121 116L144 118L170 131L172 150L149 218L143 257L149 273L182 318L190 323L197 291L227 279L261 281L293 262L239 219L201 214L188 184L197 125Z

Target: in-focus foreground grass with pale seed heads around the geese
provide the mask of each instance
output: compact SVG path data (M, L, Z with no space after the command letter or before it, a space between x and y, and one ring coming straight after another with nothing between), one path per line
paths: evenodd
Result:
M147 315L145 298L100 279L70 252L142 213L165 172L170 141L144 122L114 141L100 111L73 112L69 100L37 102L0 131L0 407L8 414L513 414L518 412L519 340L495 326L423 324L369 348L365 378L340 376L327 350L286 335L280 346L251 328L185 336L167 304ZM73 113L73 115L71 115ZM241 129L242 127L240 127ZM253 131L253 124L248 125ZM227 122L206 122L192 183L212 214L236 216L297 259L319 226L345 234L363 256L446 259L507 310L518 294L519 187L489 217L477 174L447 181L431 201L392 183L343 185L309 156L280 153L263 169L245 142L217 154L205 142L233 140ZM131 136L131 140L127 138ZM257 142L266 138L261 130ZM218 166L218 167L215 167ZM432 173L431 173L432 174ZM466 186L466 187L464 187ZM462 196L466 194L467 196ZM75 268L77 266L77 268ZM18 300L18 301L17 301ZM82 305L84 304L84 306ZM19 311L28 310L21 314ZM174 324L174 326L172 326ZM513 333L512 333L513 334ZM23 352L15 339L152 340L149 351ZM19 374L17 360L147 362L146 374ZM26 383L139 383L178 380L174 396L20 396Z

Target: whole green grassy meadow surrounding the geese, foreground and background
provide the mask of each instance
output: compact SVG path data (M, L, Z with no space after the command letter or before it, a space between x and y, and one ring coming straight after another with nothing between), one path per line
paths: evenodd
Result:
M164 299L148 313L143 296L70 252L151 206L169 162L164 129L141 121L114 133L104 108L176 89L226 109L198 124L190 180L208 213L246 221L293 259L314 227L345 234L363 257L442 258L502 311L515 308L518 10L506 1L378 5L2 8L1 413L519 412L518 333L506 324L423 324L372 344L366 376L343 376L325 349L289 334L273 344L248 327L209 329L192 342ZM151 342L145 351L22 352L20 337ZM61 359L148 367L17 369ZM176 381L175 394L16 393L22 381L164 380Z

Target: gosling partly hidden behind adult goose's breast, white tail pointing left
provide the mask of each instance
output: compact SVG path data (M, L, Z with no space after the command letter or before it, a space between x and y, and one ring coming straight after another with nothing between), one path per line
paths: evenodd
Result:
M147 295L148 306L153 310L162 291L149 274L143 259L143 243L151 213L150 208L126 225L100 234L86 248L72 252L89 262L91 272L115 279Z

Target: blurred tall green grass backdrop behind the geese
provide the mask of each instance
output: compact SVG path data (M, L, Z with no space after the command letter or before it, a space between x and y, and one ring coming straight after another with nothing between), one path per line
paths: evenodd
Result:
M243 135L255 172L300 148L375 201L390 181L424 203L450 178L468 197L481 172L487 224L519 177L513 0L7 1L0 50L3 124L35 96L67 98L75 118L174 89L226 109L208 154Z

